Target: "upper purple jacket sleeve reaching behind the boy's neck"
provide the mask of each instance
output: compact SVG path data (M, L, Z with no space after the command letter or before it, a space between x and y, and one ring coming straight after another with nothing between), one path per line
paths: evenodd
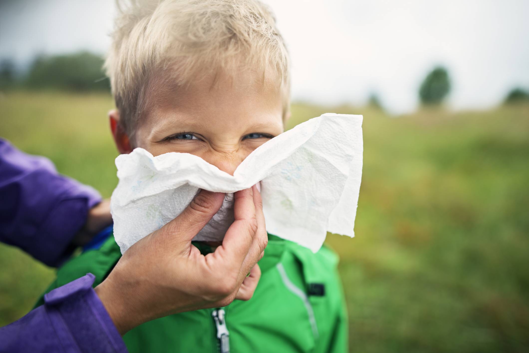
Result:
M100 201L93 188L59 175L50 160L0 139L0 241L58 266Z

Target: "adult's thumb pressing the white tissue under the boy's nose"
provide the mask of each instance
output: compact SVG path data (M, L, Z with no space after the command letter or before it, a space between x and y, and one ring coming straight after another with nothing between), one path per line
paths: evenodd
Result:
M189 242L220 210L224 201L224 193L200 190L193 201L174 220L160 230L169 236Z

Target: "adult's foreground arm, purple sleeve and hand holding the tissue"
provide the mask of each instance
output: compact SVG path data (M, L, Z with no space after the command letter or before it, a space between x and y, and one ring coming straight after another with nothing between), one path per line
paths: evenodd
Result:
M256 186L235 193L235 222L213 254L191 245L223 200L201 191L177 218L125 251L95 289L88 274L45 295L44 305L0 328L0 352L125 351L120 334L143 322L249 300L268 241Z

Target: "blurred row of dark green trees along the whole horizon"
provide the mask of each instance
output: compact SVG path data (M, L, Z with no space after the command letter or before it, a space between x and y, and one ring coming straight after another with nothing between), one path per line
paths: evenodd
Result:
M88 51L35 57L27 72L17 75L12 60L0 61L0 90L56 89L69 92L110 92L110 82L103 71L103 58ZM418 89L423 106L441 106L450 94L451 80L443 66L434 67ZM529 91L515 87L508 92L504 104L529 102ZM383 109L376 93L370 95L368 105Z

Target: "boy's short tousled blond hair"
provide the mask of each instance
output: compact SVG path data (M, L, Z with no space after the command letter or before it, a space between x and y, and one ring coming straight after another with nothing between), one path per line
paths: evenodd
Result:
M272 69L289 106L289 58L269 8L258 0L116 0L117 17L105 69L120 123L133 138L160 70L185 85L197 75ZM241 67L242 66L242 67ZM163 75L167 79L167 75ZM159 80L159 77L157 78Z

